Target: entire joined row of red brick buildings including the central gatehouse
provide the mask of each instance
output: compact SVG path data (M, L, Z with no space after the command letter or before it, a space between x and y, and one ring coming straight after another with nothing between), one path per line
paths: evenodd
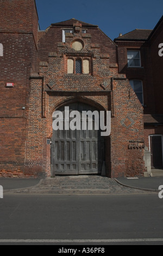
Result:
M162 167L162 19L112 41L76 19L38 30L34 0L0 7L0 176L150 175L155 144ZM65 106L111 111L111 134L53 130Z

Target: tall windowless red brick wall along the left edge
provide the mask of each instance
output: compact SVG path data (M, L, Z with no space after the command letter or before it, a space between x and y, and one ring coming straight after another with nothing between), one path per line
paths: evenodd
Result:
M0 1L0 176L24 175L30 72L37 61L37 13L33 0ZM7 83L14 87L7 88Z

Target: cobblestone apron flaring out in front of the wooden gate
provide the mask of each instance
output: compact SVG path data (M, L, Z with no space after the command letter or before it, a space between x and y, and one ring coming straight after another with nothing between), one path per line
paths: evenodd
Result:
M154 193L118 184L114 179L101 176L57 176L41 180L35 187L6 190L23 194L137 194Z

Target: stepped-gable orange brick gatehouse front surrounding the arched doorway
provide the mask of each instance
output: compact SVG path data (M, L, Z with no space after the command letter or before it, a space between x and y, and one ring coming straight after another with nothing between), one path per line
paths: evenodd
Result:
M53 134L53 111L75 101L112 112L111 136L105 138L106 175L142 176L145 171L142 106L126 76L118 74L115 44L98 28L92 30L87 36L67 35L66 43L62 43L61 29L52 26L39 41L40 78L31 78L26 141L28 173L50 175L50 147L46 140ZM85 45L80 52L71 47L76 39L83 40ZM67 74L70 56L89 57L90 74Z

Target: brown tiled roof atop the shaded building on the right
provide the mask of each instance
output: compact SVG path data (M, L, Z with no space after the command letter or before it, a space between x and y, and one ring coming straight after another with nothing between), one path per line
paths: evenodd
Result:
M149 35L152 33L152 29L134 29L133 31L121 35L114 39L114 41L118 40L138 40L138 41L145 41L148 39Z

